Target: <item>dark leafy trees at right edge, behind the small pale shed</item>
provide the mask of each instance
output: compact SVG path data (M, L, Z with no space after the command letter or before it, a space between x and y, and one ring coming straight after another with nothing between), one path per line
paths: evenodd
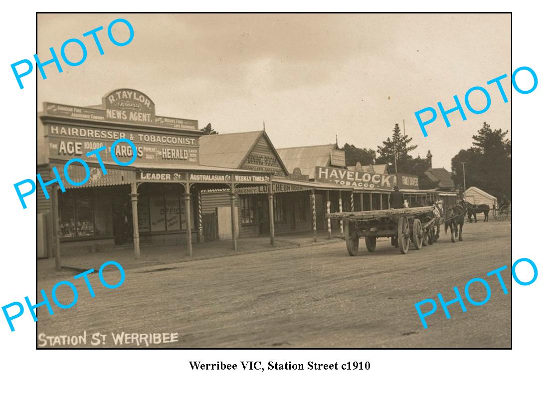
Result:
M511 200L511 141L506 139L507 133L483 123L477 135L473 135L472 147L451 159L455 184L463 185L461 162L465 162L466 188L476 186L500 200Z

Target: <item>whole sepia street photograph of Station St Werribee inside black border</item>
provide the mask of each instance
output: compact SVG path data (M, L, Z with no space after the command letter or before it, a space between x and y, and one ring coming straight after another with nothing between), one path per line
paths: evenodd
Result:
M36 348L512 348L511 13L36 24Z

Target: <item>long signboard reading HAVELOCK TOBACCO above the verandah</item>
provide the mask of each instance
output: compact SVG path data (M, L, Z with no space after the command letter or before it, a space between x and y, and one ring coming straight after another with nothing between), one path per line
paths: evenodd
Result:
M332 167L315 167L315 180L334 185L365 189L391 189L395 175L349 171Z

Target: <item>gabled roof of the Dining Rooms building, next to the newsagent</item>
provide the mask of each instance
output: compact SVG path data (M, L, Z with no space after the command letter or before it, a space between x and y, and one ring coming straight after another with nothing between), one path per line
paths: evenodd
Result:
M199 163L214 167L239 169L261 137L268 142L286 174L289 172L264 131L235 132L231 134L203 135L198 139Z

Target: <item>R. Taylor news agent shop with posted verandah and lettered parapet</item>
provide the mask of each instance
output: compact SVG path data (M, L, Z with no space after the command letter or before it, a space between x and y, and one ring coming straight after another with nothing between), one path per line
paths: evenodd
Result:
M199 162L198 122L156 116L154 102L139 91L120 89L91 108L45 103L39 114L39 174L54 179L71 158L82 158L90 176L81 186L53 184L51 199L38 194L38 246L44 256L87 253L141 244L185 244L204 241L200 197L206 189L227 189L230 214L235 214L235 189L260 186L271 189L269 172L212 167ZM113 161L109 148L127 138L137 148L130 166ZM86 153L105 146L99 156ZM132 148L118 144L115 156L132 158ZM62 171L60 171L62 173ZM85 167L71 165L74 181L87 178ZM230 238L239 235L230 219ZM41 254L40 254L41 256Z

